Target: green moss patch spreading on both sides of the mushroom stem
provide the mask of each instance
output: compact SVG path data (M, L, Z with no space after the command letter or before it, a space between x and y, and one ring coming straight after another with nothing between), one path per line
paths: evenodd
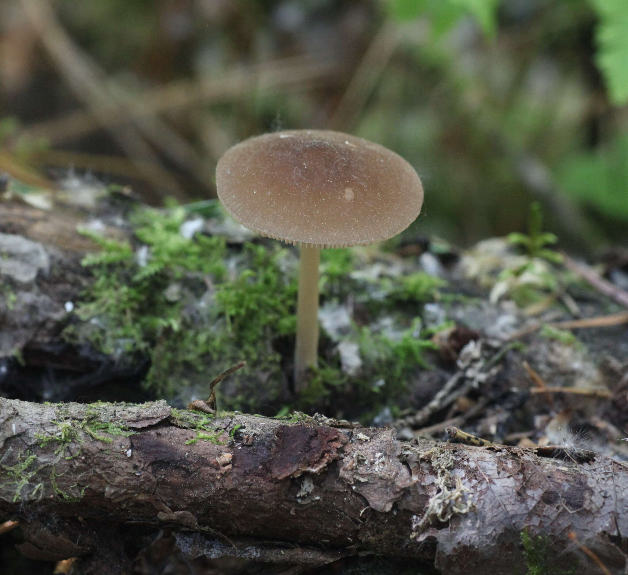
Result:
M219 237L187 239L180 233L186 218L182 207L142 210L132 218L133 243L98 239L102 252L84 260L94 284L77 305L83 323L70 326L65 336L89 340L121 361L148 356L146 387L182 404L244 359L247 367L220 384L221 407L273 409L290 363L279 349L291 355L296 330L296 254L278 242L227 249ZM416 367L427 366L424 354L433 345L417 327L418 318L412 319L422 304L440 299L445 282L423 272L399 276L398 262L385 256L381 266L391 266L386 272L371 274L369 267L352 274L360 264L356 253L365 252L323 250L321 285L323 304L351 295L366 310L369 326L353 326L347 335L359 345L363 368L348 377L332 348L300 398L301 409L324 409L325 398L333 389L350 389L345 385L359 392L353 414L377 409L394 402ZM394 323L390 329L375 325L388 320Z

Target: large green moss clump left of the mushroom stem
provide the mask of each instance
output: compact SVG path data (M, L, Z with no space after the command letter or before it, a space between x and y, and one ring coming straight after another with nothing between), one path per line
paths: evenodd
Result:
M222 237L183 237L186 217L182 207L138 212L136 249L95 237L102 251L83 261L94 284L76 309L84 323L64 335L119 358L148 356L145 385L159 397L211 379L208 365L220 373L246 358L278 382L266 397L273 399L282 379L272 342L296 325L296 279L281 269L288 252L246 244L230 254ZM232 382L237 392L223 404L250 406L259 390L247 389L241 373Z

